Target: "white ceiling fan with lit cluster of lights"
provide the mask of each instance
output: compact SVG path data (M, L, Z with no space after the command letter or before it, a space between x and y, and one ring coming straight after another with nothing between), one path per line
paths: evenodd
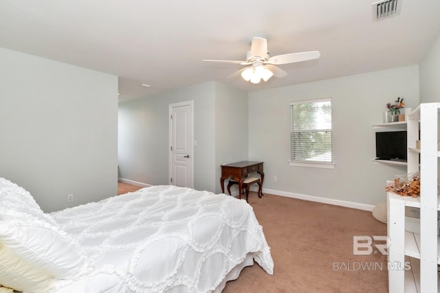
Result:
M236 71L228 77L234 78L236 75L241 74L241 77L247 82L250 81L254 84L258 84L263 79L265 82L272 78L272 75L277 78L283 78L287 75L287 72L277 67L276 65L282 65L287 63L301 62L307 60L317 59L320 56L319 51L307 51L299 53L283 54L274 57L270 57L269 51L267 51L267 40L259 36L252 38L250 45L250 51L246 54L245 61L236 60L203 60L204 62L220 62L220 63L232 63L239 65L250 65L244 67L239 71Z

